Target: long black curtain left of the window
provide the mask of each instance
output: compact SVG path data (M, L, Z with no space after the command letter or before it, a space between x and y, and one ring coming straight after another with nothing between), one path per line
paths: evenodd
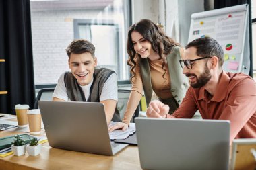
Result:
M34 105L30 0L0 0L0 113L15 114L16 104Z

